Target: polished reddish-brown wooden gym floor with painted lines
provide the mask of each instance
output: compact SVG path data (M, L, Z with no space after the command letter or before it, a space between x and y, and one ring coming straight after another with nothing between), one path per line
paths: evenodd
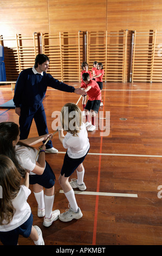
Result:
M0 104L13 95L10 87L1 86ZM78 99L76 94L47 90L44 108L49 132L53 132L55 119L51 114L60 111L64 103L76 103ZM46 245L162 245L162 188L158 188L162 186L162 84L108 82L103 84L102 100L100 112L107 119L99 119L99 129L88 132L90 150L84 162L87 194L76 194L83 217L68 223L57 220L49 228L43 227L30 186L28 203L34 225L42 229ZM78 105L82 109L81 101ZM18 115L14 109L0 109L2 121L18 124ZM110 131L104 136L101 128L106 122ZM34 122L30 132L33 136L37 136ZM58 178L66 150L57 134L53 144L59 153L46 154L57 179L53 210L64 212L68 202ZM71 178L76 178L76 173ZM34 245L22 236L19 244Z

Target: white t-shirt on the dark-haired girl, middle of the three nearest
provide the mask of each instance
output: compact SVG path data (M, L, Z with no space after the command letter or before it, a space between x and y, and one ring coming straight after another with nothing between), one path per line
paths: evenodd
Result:
M16 145L15 151L19 164L21 164L23 168L30 170L30 174L35 174L32 170L34 170L36 166L37 150L22 145Z

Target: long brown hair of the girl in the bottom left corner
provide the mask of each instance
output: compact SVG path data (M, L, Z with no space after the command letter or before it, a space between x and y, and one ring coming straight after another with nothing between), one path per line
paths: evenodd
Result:
M2 188L2 198L0 198L0 224L11 222L15 214L12 200L20 191L21 174L15 164L8 156L0 155L0 186ZM4 223L3 223L4 221Z

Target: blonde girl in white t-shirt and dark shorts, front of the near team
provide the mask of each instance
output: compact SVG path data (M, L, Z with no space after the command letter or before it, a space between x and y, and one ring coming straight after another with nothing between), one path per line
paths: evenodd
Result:
M61 109L61 121L63 129L59 130L59 139L63 147L67 149L67 153L64 156L59 182L68 199L70 208L60 214L59 219L68 222L72 221L73 218L79 219L82 217L73 188L77 187L79 190L86 190L85 182L83 182L85 174L83 161L89 150L89 139L86 126L82 123L81 109L74 103L67 103L63 106ZM64 136L63 130L67 131L66 136ZM75 170L77 180L69 182L69 177Z

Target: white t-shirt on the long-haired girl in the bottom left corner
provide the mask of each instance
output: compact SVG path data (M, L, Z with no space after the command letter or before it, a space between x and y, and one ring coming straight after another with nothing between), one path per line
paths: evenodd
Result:
M12 205L14 206L15 214L12 221L9 224L0 225L0 231L10 231L17 227L20 227L25 221L28 220L31 214L31 208L27 203L27 199L31 191L28 187L22 185L17 196L12 200Z

